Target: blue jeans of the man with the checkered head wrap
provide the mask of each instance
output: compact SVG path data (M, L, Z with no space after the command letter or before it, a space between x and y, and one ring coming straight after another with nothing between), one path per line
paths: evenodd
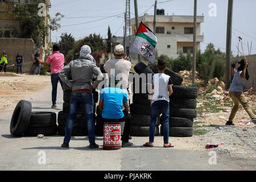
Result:
M71 139L73 123L76 120L77 109L79 108L80 104L83 104L85 109L85 119L87 122L87 129L89 133L89 142L90 144L94 144L95 128L94 128L94 121L93 121L93 105L94 105L93 95L92 93L75 93L75 92L72 92L71 94L69 116L68 116L68 121L65 127L64 143L69 143Z

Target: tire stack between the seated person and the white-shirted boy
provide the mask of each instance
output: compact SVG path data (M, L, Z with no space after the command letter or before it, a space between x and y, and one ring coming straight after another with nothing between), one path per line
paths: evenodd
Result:
M148 74L151 76L154 75L154 72L151 71L146 64L139 62L134 66L134 70L139 75L145 74L146 78ZM150 90L148 85L148 80L143 82L143 80L139 79L139 85L135 85L135 79L133 80L132 92L133 92L133 103L130 105L130 135L138 136L138 137L148 137L150 131L150 100L148 100L148 92ZM143 86L146 86L146 93L143 93ZM139 88L137 88L139 87ZM139 92L138 92L139 91ZM159 135L159 125L160 119L156 120L155 125L155 136Z

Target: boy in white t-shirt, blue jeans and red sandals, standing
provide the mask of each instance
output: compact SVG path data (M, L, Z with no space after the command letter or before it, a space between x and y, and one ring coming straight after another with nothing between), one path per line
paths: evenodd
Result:
M172 80L171 77L164 74L166 70L166 62L162 59L158 60L158 73L153 76L152 89L154 89L154 95L151 100L151 121L150 121L150 136L149 142L143 144L145 147L154 147L155 137L155 123L158 117L158 111L162 111L163 118L163 137L164 137L164 148L174 147L169 143L169 114L170 114L170 96L172 94Z

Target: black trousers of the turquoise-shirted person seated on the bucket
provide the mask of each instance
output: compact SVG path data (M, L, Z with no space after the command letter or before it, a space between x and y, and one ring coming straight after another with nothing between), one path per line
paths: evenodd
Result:
M120 119L106 119L102 118L104 122L125 122L125 127L123 128L123 135L121 140L123 142L128 142L129 141L129 135L130 135L130 118L131 114L125 114L123 118Z

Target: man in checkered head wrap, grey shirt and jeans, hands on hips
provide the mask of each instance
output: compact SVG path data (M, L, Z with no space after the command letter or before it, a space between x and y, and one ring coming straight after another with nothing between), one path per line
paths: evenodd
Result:
M85 108L85 119L87 122L90 142L89 148L98 148L98 144L95 143L95 128L93 121L94 101L92 90L101 82L100 78L103 78L103 75L100 68L86 58L86 49L88 49L88 47L89 46L86 45L82 46L79 59L71 61L59 73L61 80L72 88L69 116L65 127L65 138L63 144L61 144L61 147L64 148L69 147L73 123L76 120L77 109L80 104L84 105ZM72 75L73 82L68 80L69 74ZM97 76L97 79L92 85L93 74Z

